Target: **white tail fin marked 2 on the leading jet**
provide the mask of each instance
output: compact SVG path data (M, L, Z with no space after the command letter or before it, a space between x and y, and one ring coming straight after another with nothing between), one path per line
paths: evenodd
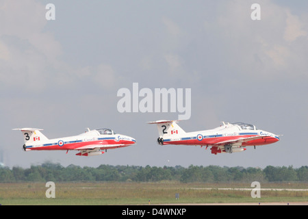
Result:
M178 134L186 133L177 123L180 120L157 120L155 122L149 122L149 124L156 124L158 134L160 138L166 138L170 136L177 136Z

